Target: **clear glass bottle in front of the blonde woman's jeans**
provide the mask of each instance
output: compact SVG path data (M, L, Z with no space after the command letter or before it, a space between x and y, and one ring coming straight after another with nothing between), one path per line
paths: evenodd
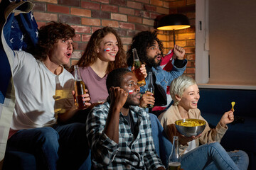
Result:
M171 154L168 163L169 170L181 169L181 157L178 154L178 137L174 136L173 146L171 148Z

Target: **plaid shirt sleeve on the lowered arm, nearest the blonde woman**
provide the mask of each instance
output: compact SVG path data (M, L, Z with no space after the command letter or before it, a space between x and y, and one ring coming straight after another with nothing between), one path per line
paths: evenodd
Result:
M157 156L156 150L154 147L154 141L152 137L152 130L151 130L151 123L149 119L149 114L144 115L146 118L146 124L147 124L147 144L145 149L145 157L144 162L147 169L157 169L159 167L164 167L164 165L161 163L161 159ZM165 167L164 167L165 168Z

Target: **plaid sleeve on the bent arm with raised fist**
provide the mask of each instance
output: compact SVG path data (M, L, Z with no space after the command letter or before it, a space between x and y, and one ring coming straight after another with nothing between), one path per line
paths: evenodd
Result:
M92 159L95 161L95 164L99 165L111 164L119 149L119 145L110 140L103 132L108 110L105 104L95 106L89 113L86 121L86 134L92 151Z

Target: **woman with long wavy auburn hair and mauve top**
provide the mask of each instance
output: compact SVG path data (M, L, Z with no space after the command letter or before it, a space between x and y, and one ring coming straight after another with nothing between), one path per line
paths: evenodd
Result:
M107 74L113 69L127 67L127 57L117 32L110 27L96 30L78 61L78 67L92 107L105 101L108 96ZM146 74L145 67L142 67L142 72Z

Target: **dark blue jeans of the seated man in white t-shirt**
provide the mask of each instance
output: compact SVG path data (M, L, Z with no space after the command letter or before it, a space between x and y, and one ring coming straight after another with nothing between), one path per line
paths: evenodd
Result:
M19 130L7 146L35 155L38 169L90 168L83 164L90 152L85 123Z

